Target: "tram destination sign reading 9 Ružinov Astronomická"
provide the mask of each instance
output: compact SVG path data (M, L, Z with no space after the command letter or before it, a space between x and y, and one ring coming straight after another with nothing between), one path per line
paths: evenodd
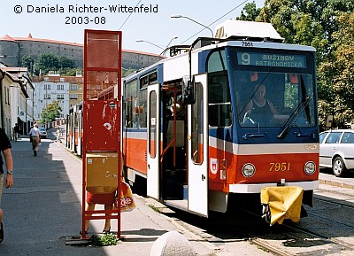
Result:
M306 56L266 52L237 52L239 65L306 68Z

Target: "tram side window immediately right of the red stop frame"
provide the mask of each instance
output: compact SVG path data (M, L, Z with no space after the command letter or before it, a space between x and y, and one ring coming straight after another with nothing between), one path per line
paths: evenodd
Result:
M126 84L126 127L137 128L138 124L138 81L129 81Z

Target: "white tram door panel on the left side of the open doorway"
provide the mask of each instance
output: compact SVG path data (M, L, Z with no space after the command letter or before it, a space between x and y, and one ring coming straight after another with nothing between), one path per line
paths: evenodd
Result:
M148 87L147 195L159 199L160 168L160 85Z

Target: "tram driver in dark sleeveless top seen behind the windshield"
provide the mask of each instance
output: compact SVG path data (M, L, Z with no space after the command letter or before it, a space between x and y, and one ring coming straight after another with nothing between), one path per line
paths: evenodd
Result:
M256 85L253 97L244 108L245 120L258 122L260 125L266 125L273 120L273 115L277 114L273 103L266 98L266 86L264 84Z

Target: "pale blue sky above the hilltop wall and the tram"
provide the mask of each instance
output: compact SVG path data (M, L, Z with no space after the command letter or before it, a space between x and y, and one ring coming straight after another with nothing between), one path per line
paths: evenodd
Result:
M211 36L210 27L239 16L244 4L265 0L12 0L2 1L0 36L83 43L84 29L122 31L123 49L161 53L168 43ZM136 8L135 8L136 7ZM130 10L136 12L131 12ZM180 14L187 18L173 19ZM193 22L190 19L194 19ZM204 30L203 30L204 29ZM203 31L201 31L203 30ZM178 36L177 39L173 37ZM137 43L136 40L144 42Z

